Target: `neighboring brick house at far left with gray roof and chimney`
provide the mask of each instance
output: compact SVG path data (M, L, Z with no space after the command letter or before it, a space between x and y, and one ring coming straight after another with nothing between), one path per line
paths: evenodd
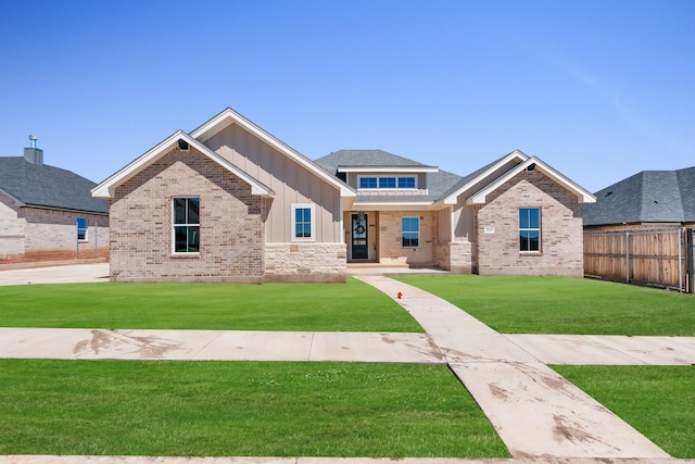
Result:
M0 259L108 255L109 202L92 198L96 183L43 164L35 140L24 156L0 158Z

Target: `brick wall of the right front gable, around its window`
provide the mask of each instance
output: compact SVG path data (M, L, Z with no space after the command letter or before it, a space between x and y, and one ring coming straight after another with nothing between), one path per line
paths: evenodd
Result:
M519 208L541 209L539 253L519 251ZM476 216L479 274L583 277L581 203L539 170L523 171L489 195Z

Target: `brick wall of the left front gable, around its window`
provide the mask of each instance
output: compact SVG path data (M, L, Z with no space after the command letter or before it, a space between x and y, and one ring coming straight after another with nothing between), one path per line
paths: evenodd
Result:
M200 253L172 252L172 199L200 197ZM194 149L175 149L116 189L111 280L262 283L265 201Z

